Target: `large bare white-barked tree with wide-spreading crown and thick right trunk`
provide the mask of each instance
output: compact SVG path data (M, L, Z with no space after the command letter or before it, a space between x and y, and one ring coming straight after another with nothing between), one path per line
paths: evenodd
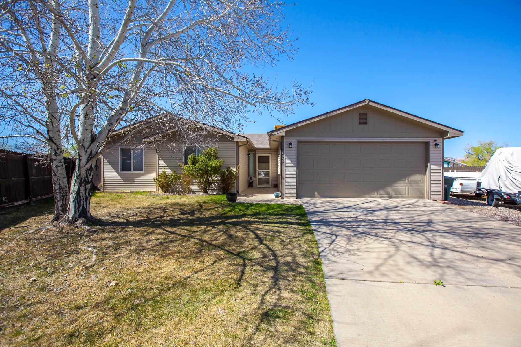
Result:
M93 166L122 125L141 121L159 133L193 132L182 120L209 125L199 131L234 130L249 112L287 114L308 104L301 85L277 89L275 81L246 71L293 57L284 6L253 0L3 3L9 29L0 38L2 62L10 59L12 67L2 73L8 93L1 98L24 96L5 118L8 128L33 119L38 124L24 135L38 131L35 138L44 138L62 162L64 144L77 146L63 221L92 218ZM31 87L31 94L23 89ZM58 158L53 162L59 166ZM54 176L60 182L65 171Z

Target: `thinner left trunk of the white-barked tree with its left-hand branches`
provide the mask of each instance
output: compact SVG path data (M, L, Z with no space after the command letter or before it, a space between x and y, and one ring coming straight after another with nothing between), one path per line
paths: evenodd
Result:
M31 2L0 4L0 121L4 125L0 138L23 139L17 147L49 154L54 220L59 220L69 198L56 88L61 25L52 16L41 16L42 9Z

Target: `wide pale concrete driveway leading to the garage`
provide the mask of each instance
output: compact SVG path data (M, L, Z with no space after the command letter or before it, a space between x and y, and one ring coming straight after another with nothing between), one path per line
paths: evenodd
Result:
M300 201L339 347L521 346L521 227L430 200Z

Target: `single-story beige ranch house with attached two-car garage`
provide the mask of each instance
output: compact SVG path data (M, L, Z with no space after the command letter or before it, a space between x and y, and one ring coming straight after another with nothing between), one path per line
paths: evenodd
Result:
M239 165L239 193L253 181L253 187L278 187L283 199L440 200L444 140L462 135L365 99L264 134L219 130L213 146L224 166ZM102 190L156 191L153 178L163 168L179 173L178 163L199 151L175 143L154 149L146 141L134 136L131 145L103 153ZM199 192L195 184L192 188Z

